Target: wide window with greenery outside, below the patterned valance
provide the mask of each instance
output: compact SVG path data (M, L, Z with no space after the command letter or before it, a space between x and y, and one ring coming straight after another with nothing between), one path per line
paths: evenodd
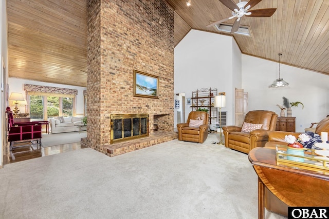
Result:
M30 95L31 121L74 115L75 97Z

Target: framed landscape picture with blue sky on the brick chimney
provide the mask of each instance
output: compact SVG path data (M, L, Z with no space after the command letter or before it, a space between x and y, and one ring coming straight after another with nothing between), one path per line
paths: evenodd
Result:
M134 96L159 98L159 77L134 70Z

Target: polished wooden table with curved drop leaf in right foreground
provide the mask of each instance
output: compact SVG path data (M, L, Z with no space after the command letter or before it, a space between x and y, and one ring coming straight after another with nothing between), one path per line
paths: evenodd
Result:
M329 206L329 171L277 165L275 148L254 148L248 158L258 175L258 218L264 218L265 187L291 207Z

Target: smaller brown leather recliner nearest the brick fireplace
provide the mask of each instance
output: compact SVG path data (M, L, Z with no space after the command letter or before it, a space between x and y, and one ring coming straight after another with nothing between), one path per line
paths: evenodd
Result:
M190 120L200 118L203 120L203 125L198 128L189 127ZM204 111L192 111L189 114L187 123L177 124L178 140L187 142L203 143L208 137L208 119L209 115Z

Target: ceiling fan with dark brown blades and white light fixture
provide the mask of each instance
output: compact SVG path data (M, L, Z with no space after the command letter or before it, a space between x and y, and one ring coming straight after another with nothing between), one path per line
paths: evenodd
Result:
M214 23L211 23L207 25L206 27L212 27L216 24L223 23L227 21L228 19L232 19L236 17L235 22L233 24L233 27L231 29L231 34L239 30L241 18L246 15L249 17L270 17L276 12L276 8L263 8L263 9L255 9L255 10L249 10L253 6L260 3L262 0L250 0L249 2L241 2L239 0L239 3L234 3L233 0L220 0L221 3L223 3L226 7L232 10L232 16L227 17L225 19L222 19L220 21L216 21Z

